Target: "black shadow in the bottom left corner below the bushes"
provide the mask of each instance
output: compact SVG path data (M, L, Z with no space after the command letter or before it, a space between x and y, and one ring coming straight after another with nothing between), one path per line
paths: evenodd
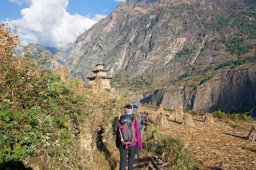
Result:
M0 164L2 170L33 170L31 167L26 167L21 161L7 161Z

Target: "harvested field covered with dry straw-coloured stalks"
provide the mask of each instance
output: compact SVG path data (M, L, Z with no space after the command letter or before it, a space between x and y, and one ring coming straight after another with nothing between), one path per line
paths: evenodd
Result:
M152 110L153 121L155 113ZM204 123L201 117L192 116L195 126L191 127L169 119L168 115L165 111L168 127L160 128L162 133L187 143L202 169L256 169L256 142L246 140L253 123L234 128L217 119L214 123Z

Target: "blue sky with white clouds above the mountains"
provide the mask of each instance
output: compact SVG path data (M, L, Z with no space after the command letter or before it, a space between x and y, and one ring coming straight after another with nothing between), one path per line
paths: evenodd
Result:
M0 1L0 21L18 26L24 45L65 47L124 0Z

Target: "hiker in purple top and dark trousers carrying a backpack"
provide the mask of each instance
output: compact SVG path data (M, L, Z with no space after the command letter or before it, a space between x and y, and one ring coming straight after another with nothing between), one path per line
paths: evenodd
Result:
M120 152L119 170L125 170L128 154L128 170L133 169L135 150L138 145L142 150L140 129L138 120L133 117L133 107L131 104L125 105L125 114L117 121L116 147ZM118 119L118 118L117 118Z

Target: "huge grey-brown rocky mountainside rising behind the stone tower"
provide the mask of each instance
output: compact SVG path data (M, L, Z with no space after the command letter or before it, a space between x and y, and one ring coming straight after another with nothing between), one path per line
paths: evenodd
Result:
M120 71L128 79L144 74L155 87L186 72L196 75L210 64L215 67L237 59L221 40L251 35L241 33L237 18L250 19L242 11L255 11L252 4L235 0L127 0L78 37L66 64L78 70L85 81L95 64L103 62L110 76ZM254 47L254 42L245 38L239 43ZM253 52L250 48L244 57Z

